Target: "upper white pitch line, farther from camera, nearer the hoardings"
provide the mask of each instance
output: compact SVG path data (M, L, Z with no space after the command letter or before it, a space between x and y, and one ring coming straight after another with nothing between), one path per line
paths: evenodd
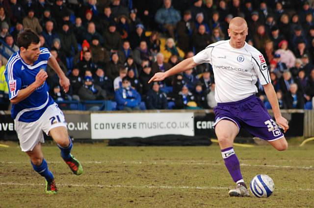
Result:
M240 160L241 161L241 160ZM5 164L26 164L26 162L1 162ZM62 161L51 161L48 162L51 164L60 164ZM198 161L198 160L186 160L186 161L178 161L173 162L170 160L159 160L159 161L137 161L137 160L129 160L129 161L119 161L119 160L107 160L107 161L81 161L81 163L85 164L145 164L145 165L212 165L212 166L221 166L224 165L222 160L217 163L209 163L206 161ZM297 168L297 169L306 169L312 170L314 167L311 166L291 166L291 165L253 165L240 163L240 166L249 166L249 167L268 167L268 168Z

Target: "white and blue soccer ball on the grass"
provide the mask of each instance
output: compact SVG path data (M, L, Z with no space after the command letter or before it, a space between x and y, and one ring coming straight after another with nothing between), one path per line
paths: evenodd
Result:
M273 180L267 175L256 175L250 182L250 190L256 197L269 197L275 189Z

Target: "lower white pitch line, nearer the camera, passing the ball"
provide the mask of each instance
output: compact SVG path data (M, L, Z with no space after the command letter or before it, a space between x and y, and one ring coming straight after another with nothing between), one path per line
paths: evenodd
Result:
M41 183L16 183L16 182L0 182L0 185L27 185L27 186L43 186L45 184ZM94 184L58 184L58 186L74 186L74 187L98 187L98 188L148 188L148 189L202 189L202 190L208 190L208 189L230 189L229 187L217 187L217 186L168 186L168 185L94 185ZM314 191L314 188L295 188L295 189L275 189L278 191Z

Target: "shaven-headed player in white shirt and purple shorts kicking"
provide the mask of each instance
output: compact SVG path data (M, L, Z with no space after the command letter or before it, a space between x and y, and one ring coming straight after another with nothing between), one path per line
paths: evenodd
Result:
M212 65L215 79L214 108L215 133L218 138L225 165L236 182L230 196L249 196L240 171L240 164L233 142L240 127L254 136L268 141L279 151L286 150L288 143L278 125L286 132L288 121L282 117L275 90L271 84L267 64L261 52L245 42L248 34L247 23L235 17L229 24L230 40L210 44L206 49L187 58L166 72L156 73L149 82L161 81L169 76L192 69L198 64ZM255 96L255 83L259 78L276 122L272 120L262 101Z

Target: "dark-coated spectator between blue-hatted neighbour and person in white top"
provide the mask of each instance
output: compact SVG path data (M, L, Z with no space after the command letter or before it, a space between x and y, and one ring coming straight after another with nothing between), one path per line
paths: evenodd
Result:
M105 70L102 67L97 68L93 79L94 83L105 90L108 96L114 95L113 81L105 75Z

